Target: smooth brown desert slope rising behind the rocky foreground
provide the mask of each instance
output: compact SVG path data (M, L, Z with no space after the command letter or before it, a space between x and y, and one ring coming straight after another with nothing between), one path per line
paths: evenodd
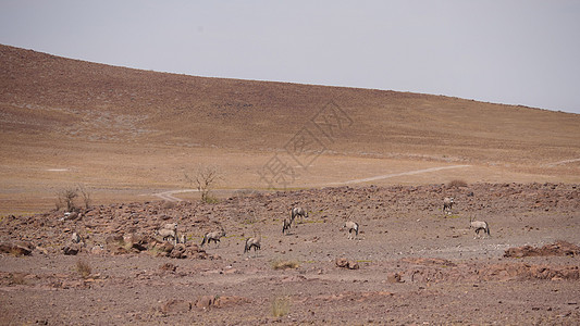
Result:
M0 68L0 213L46 209L76 184L97 201L188 188L184 172L208 164L223 173L220 188L263 189L257 175L274 154L300 170L291 188L580 181L578 114L157 73L8 46Z

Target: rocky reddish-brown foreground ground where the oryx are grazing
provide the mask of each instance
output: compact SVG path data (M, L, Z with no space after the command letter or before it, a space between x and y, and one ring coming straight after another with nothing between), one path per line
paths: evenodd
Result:
M446 196L456 199L451 215ZM294 205L309 217L283 235ZM474 238L470 217L486 221L491 237ZM360 225L355 240L341 229L346 218ZM170 222L188 239L187 258L151 247ZM579 226L580 185L567 184L238 191L213 204L7 216L0 243L27 241L32 254L14 247L0 256L0 324L578 325ZM219 246L198 247L220 227ZM65 255L72 233L85 244ZM244 253L256 234L261 250ZM530 248L504 256L521 246Z

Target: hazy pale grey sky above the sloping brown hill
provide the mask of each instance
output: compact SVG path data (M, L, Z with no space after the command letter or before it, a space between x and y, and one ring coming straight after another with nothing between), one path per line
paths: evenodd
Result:
M0 0L0 43L159 72L580 113L580 1Z

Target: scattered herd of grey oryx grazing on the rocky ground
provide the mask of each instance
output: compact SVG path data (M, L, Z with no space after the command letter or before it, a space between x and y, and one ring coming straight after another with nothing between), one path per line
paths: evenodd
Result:
M443 199L443 213L444 214L452 214L453 204L455 203L455 198L453 197L445 197ZM300 218L303 222L305 218L308 218L308 212L303 208L292 208L289 217L284 218L282 221L282 234L286 234L289 231L289 229L295 225L296 218ZM476 237L480 236L480 231L483 230L484 235L490 235L490 225L488 222L484 221L474 221L471 217L469 218L469 228L473 228L476 231ZM347 221L343 224L343 229L346 229L348 231L348 239L356 239L358 237L359 233L359 225L358 223L354 221ZM161 236L163 238L163 241L173 240L173 242L176 243L185 243L186 237L185 235L177 235L177 223L168 223L161 228L157 229L157 235ZM210 243L213 241L215 244L219 246L220 239L222 237L225 237L225 229L221 227L220 230L207 233L203 235L203 239L201 240L200 246L202 247L206 243ZM247 238L244 244L244 253L249 252L254 248L254 252L256 253L257 250L261 249L261 235Z

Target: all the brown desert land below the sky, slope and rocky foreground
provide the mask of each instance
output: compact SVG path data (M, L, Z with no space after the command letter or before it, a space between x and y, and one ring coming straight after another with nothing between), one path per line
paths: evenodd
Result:
M7 46L0 70L2 325L579 324L578 114ZM215 203L185 177L208 166ZM169 222L185 246L155 236Z

